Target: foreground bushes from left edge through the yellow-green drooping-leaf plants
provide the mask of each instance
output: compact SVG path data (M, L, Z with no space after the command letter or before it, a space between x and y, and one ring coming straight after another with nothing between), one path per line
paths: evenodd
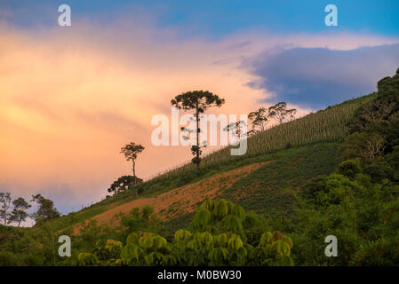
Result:
M291 238L270 233L263 219L231 201L205 201L187 229L160 234L152 208L120 216L124 227L86 225L73 236L72 256L56 256L56 234L0 227L0 262L11 265L292 265ZM128 230L126 230L128 228ZM67 233L67 232L63 232Z

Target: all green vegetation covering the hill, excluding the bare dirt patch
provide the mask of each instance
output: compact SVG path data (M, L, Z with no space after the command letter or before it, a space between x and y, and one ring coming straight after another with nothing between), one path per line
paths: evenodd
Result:
M398 117L399 70L380 80L371 96L253 135L242 157L232 158L225 148L205 156L198 171L188 164L92 209L53 221L42 212L33 228L0 225L0 264L397 265ZM188 225L175 222L176 230L150 207L116 215L116 225L92 220L76 234L70 226L126 197L273 158L227 188L223 199L204 201L184 217ZM42 200L40 194L34 199ZM58 212L47 213L52 218ZM62 234L72 238L71 257L58 256ZM331 235L338 240L338 256L328 257L325 238Z

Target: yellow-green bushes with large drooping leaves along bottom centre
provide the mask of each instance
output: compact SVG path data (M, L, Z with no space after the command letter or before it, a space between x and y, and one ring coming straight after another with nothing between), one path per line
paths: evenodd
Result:
M108 240L92 253L80 253L78 264L293 265L290 237L276 231L248 238L245 232L257 229L253 218L246 223L243 208L231 201L204 201L188 230L176 231L172 242L156 233L132 232L124 244Z

